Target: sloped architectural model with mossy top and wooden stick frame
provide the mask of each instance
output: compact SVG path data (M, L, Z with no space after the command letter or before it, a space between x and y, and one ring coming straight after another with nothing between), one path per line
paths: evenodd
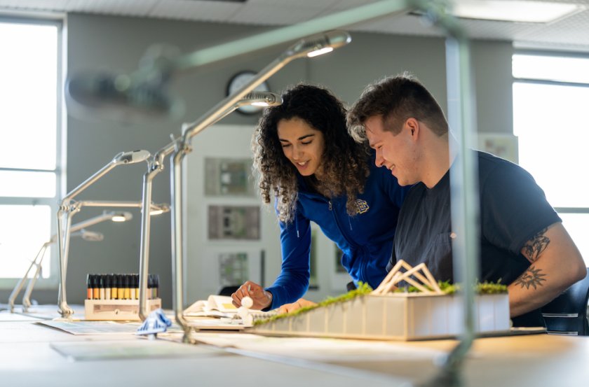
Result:
M411 285L399 292L396 284ZM442 284L443 286L444 284ZM425 264L400 260L375 290L363 285L346 295L258 321L250 332L277 336L417 340L446 338L463 330L463 299L456 286L440 288ZM507 288L484 283L475 296L475 331L510 329Z

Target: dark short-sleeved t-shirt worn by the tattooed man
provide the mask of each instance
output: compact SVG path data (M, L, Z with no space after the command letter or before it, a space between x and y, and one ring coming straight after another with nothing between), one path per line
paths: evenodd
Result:
M506 285L530 262L520 253L534 234L560 222L543 190L521 167L488 153L478 152L480 189L480 273L478 280ZM452 169L450 170L452 171ZM450 172L449 171L449 172ZM426 262L439 281L452 281L449 172L428 189L418 183L402 205L393 257L415 266ZM539 310L513 319L515 326L543 325Z

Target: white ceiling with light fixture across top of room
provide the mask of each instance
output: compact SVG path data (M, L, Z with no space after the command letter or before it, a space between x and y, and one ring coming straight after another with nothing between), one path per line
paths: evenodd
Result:
M244 3L212 0L0 0L0 12L53 10L277 26L332 15L375 1L378 0L248 0ZM473 38L513 41L517 47L589 51L589 0L552 1L583 4L585 10L549 24L463 20L463 26ZM384 34L440 35L440 31L424 27L418 17L411 15L386 17L350 29Z

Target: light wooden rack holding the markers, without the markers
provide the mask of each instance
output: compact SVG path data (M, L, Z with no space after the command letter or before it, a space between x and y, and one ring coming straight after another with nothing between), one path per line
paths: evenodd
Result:
M147 310L161 308L161 299L147 300ZM139 300L85 300L86 320L140 321Z

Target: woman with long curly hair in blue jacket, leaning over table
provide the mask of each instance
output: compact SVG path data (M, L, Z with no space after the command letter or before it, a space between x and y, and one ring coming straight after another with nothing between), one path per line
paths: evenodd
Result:
M254 171L266 204L276 200L282 269L269 288L244 283L233 297L246 295L253 309L295 302L309 288L311 221L344 253L354 283L376 287L386 274L402 200L387 169L346 129L346 108L321 87L297 85L283 104L267 108L252 139Z

